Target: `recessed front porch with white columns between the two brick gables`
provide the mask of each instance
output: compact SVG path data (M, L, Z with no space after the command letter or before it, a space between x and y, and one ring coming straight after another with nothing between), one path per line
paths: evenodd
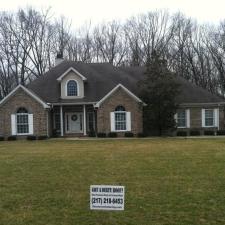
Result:
M96 131L93 105L55 105L52 108L53 136L87 136Z

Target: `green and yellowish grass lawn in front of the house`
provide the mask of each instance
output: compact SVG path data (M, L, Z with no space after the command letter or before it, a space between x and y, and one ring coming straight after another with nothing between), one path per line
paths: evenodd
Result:
M125 210L89 210L92 184ZM225 224L225 140L0 142L0 225Z

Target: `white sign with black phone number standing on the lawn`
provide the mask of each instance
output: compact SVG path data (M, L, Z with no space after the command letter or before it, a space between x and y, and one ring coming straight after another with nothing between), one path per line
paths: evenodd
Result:
M91 185L90 209L124 210L124 186Z

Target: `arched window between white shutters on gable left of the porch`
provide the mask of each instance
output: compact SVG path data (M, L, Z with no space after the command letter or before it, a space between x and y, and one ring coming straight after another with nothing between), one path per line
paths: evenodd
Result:
M29 117L25 108L19 108L16 113L16 129L17 134L29 133Z

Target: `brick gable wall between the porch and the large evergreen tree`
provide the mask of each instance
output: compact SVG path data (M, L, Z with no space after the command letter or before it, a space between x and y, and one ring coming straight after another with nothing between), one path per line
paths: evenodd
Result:
M97 129L98 132L109 133L110 112L114 112L118 105L125 107L125 110L131 112L131 132L138 134L142 132L142 104L135 101L122 88L119 88L114 94L107 98L97 110ZM122 134L121 134L122 135Z

